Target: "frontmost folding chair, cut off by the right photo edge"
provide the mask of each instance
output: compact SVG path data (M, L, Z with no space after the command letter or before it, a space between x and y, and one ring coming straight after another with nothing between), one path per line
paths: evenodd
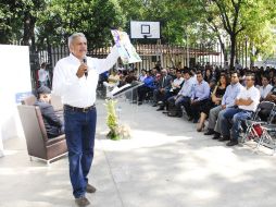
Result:
M264 124L261 125L263 133L261 135L261 138L259 139L259 143L256 145L256 149L259 147L265 146L273 149L273 154L276 151L276 124Z

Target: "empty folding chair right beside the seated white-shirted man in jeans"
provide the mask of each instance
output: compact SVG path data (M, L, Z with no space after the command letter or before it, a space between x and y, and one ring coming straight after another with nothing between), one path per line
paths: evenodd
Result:
M262 101L259 104L256 111L252 114L252 118L250 120L246 120L247 130L241 138L241 143L250 139L260 139L262 135L260 126L272 123L275 115L275 104L271 101ZM263 114L260 117L261 111L265 111L265 119Z

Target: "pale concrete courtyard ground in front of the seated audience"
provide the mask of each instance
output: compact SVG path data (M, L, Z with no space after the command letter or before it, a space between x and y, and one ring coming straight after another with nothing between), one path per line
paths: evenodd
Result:
M150 105L120 101L133 138L105 138L105 109L98 101L98 131L88 194L93 207L275 207L276 156L254 143L226 147L196 132L185 118ZM75 206L67 157L47 167L29 161L24 138L5 141L0 158L1 207Z

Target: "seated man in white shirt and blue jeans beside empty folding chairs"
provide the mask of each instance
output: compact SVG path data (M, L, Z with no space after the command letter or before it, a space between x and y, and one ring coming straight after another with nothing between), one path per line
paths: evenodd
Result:
M246 75L246 87L240 90L236 100L235 108L228 108L222 119L222 134L224 141L230 139L226 145L238 144L239 130L241 122L250 119L260 102L260 92L254 86L254 75ZM230 136L231 135L231 136Z

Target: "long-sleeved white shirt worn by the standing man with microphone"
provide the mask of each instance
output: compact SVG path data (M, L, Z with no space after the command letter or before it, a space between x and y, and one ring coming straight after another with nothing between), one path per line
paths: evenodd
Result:
M59 60L53 71L53 94L61 96L63 105L78 108L92 106L99 74L110 70L118 57L115 46L106 59L87 57L88 76L80 78L76 73L81 62L74 54Z

